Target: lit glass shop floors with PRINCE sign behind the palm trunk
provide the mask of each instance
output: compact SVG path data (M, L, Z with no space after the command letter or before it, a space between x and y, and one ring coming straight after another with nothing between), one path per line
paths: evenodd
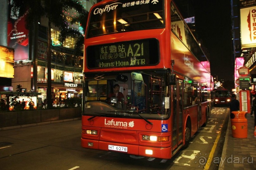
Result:
M51 47L51 81L52 81L52 102L53 106L65 106L65 100L72 97L82 96L83 81L83 57L74 55L73 48L75 39L68 38L59 47L59 32L52 29ZM42 99L45 107L47 94L47 43L38 40L38 61L37 61L37 87L41 93L38 97Z

